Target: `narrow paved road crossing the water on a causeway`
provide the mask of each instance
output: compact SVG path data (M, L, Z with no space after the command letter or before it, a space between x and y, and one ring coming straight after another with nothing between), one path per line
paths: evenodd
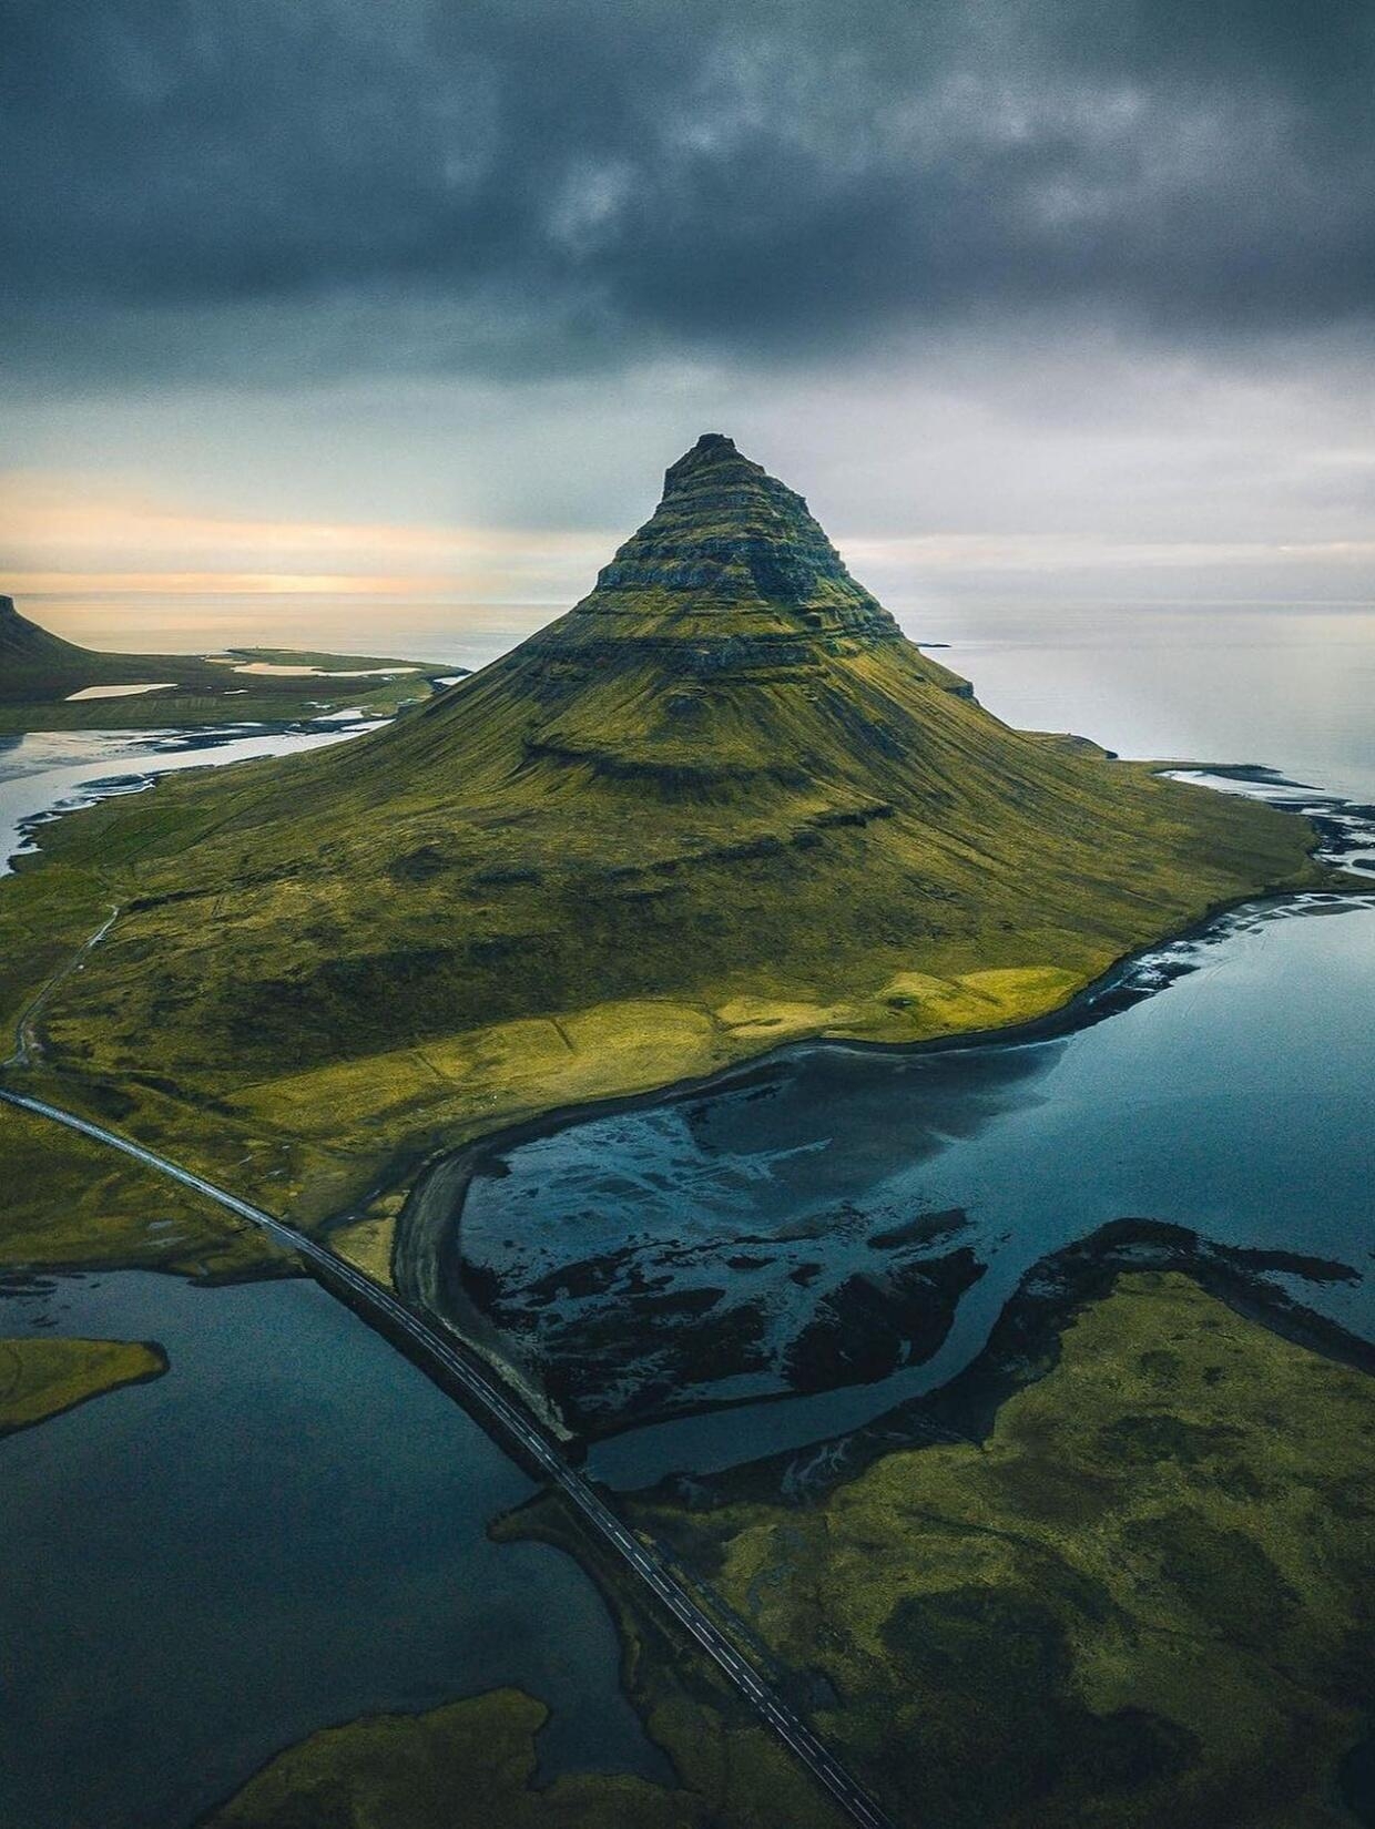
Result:
M314 1238L307 1238L305 1233L298 1233L294 1227L283 1225L282 1220L274 1220L272 1214L263 1213L261 1207L254 1207L247 1200L240 1200L238 1194L230 1194L223 1187L216 1187L214 1182L207 1182L203 1176L192 1174L190 1169L183 1169L179 1163L168 1161L166 1156L157 1156L154 1150L143 1149L141 1143L133 1143L128 1138L119 1136L117 1130L106 1130L102 1125L93 1125L84 1118L77 1118L73 1112L64 1112L57 1105L48 1105L44 1099L29 1099L24 1094L9 1092L4 1086L0 1086L0 1099L5 1105L16 1105L26 1112L37 1114L38 1118L49 1118L53 1123L66 1125L68 1130L79 1130L82 1136L93 1138L97 1143L123 1150L124 1156L132 1156L135 1161L154 1169L157 1174L181 1182L183 1187L190 1187L194 1193L203 1194L218 1207L225 1207L229 1213L238 1214L238 1218L247 1220L250 1225L261 1227L261 1231L276 1238L278 1244L285 1246L289 1251L296 1251L307 1262L325 1271L329 1280L342 1282L353 1293L364 1315L386 1321L388 1326L395 1328L410 1341L419 1357L441 1366L442 1372L448 1374L448 1377L452 1377L453 1383L464 1392L464 1396L472 1399L481 1421L486 1423L506 1447L516 1449L521 1460L532 1463L545 1478L549 1478L563 1492L570 1505L578 1507L602 1542L614 1549L614 1553L644 1582L644 1586L649 1588L655 1599L667 1608L669 1613L673 1613L678 1624L684 1626L706 1655L711 1657L720 1670L724 1670L755 1712L768 1723L770 1728L773 1728L779 1739L803 1761L812 1776L825 1785L832 1798L836 1798L841 1809L847 1811L847 1814L859 1824L861 1829L890 1829L889 1818L883 1816L878 1805L865 1796L859 1785L856 1785L845 1767L823 1747L806 1723L794 1714L792 1708L788 1708L788 1705L768 1686L768 1683L764 1683L753 1664L750 1664L748 1659L735 1650L733 1642L717 1626L711 1615L706 1613L697 1600L693 1600L691 1593L667 1569L660 1553L651 1544L644 1544L625 1524L622 1524L598 1491L574 1467L569 1465L558 1445L545 1434L539 1423L492 1383L486 1370L475 1355L463 1346L463 1342L448 1333L442 1333L432 1322L413 1313L389 1289L373 1282L371 1277L355 1269L353 1264L346 1264L344 1258L336 1257Z

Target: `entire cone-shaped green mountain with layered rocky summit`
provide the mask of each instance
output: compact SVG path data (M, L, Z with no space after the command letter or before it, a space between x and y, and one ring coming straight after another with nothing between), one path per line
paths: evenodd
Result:
M269 1193L324 1209L784 1039L1037 1015L1315 880L1309 840L1002 724L709 433L589 596L388 730L53 827L121 916L44 1006L46 1061L154 1128L218 1101L283 1150Z

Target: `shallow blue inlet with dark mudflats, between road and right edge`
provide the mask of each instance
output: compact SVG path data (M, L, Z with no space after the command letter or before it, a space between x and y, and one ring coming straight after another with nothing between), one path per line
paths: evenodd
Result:
M620 1434L594 1450L616 1483L943 1383L1040 1257L1123 1216L1302 1240L1280 1286L1370 1335L1373 973L1373 900L1276 902L1146 953L1061 1033L799 1050L497 1145L452 1275L525 1375Z

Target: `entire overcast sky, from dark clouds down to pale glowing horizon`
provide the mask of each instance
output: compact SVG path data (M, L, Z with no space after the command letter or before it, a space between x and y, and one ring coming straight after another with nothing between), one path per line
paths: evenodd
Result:
M1370 0L0 0L0 565L53 626L563 605L702 430L909 620L1371 600Z

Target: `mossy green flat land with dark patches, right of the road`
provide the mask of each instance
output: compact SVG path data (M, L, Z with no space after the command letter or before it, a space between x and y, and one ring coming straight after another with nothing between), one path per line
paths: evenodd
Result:
M1134 1273L982 1443L651 1505L911 1829L1338 1829L1375 1705L1371 1381Z

